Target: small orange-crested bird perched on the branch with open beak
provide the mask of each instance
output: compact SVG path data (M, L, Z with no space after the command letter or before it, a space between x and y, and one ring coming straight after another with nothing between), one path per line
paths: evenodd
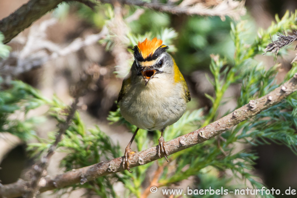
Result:
M158 155L169 156L164 130L175 123L186 111L191 100L190 92L183 75L173 57L166 51L168 46L157 37L133 48L134 62L129 74L124 78L117 104L123 118L135 125L135 130L125 149L123 168L129 172L131 144L139 129L159 130Z

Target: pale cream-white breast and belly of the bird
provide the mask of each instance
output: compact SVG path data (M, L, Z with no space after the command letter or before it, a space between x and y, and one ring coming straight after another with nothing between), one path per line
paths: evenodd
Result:
M187 104L180 83L152 78L146 86L131 85L120 101L122 116L140 129L160 130L178 121Z

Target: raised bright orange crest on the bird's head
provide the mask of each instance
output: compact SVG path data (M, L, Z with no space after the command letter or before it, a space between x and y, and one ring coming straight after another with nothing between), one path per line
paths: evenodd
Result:
M141 53L142 57L145 59L150 54L153 54L160 46L167 47L163 45L163 41L161 39L157 39L157 37L153 38L152 40L145 39L143 42L138 41L138 51Z

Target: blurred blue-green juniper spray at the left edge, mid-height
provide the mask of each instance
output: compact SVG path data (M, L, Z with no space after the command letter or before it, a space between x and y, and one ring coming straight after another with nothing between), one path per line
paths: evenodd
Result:
M36 125L44 121L44 117L28 117L27 113L45 104L46 99L21 81L12 81L10 86L0 91L0 132L10 132L28 140L36 134Z

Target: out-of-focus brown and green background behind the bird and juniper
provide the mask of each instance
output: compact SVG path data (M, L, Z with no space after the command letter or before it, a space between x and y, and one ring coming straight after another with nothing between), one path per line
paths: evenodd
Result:
M0 19L8 16L26 2L27 0L13 2L0 0ZM268 28L275 20L276 14L281 18L286 10L293 12L297 9L295 0L246 0L245 5L247 14L241 20L248 20L251 34L254 35L257 34L258 28ZM131 50L123 49L126 47L131 49L137 40L146 36L161 37L165 44L170 46L170 53L189 85L192 101L188 104L188 109L203 107L203 110L207 112L212 103L205 93L214 95L214 88L206 78L206 74L211 76L210 55L220 54L228 61L233 60L234 43L230 37L230 22L233 20L229 17L222 20L220 17L173 15L141 8L123 9L121 12L134 13L128 14L129 17L124 19L125 23L118 20L115 22L116 26L108 25L108 29L117 35L117 38L114 38L112 34L106 36L104 32L107 26L104 21L109 20L112 18L110 15L113 15L110 9L110 5L106 4L97 7L96 12L78 3L59 5L57 9L34 22L30 28L8 43L12 49L12 54L7 59L11 68L3 69L1 76L6 80L20 79L39 89L44 96L51 98L53 94L56 94L65 104L70 104L72 97L69 90L79 80L80 71L91 64L96 64L99 67L99 81L92 91L80 100L81 119L87 126L98 124L114 142L119 142L124 151L132 133L124 126L110 125L106 119L110 111L117 110L115 101L121 89L123 77L132 64ZM116 14L116 9L114 14ZM126 24L129 24L129 27ZM129 32L127 34L128 37L130 36L129 39L125 38L127 32ZM101 37L98 33L103 36ZM102 40L97 42L98 39L95 39L94 41L90 37L92 35L97 35ZM89 42L83 43L82 40ZM110 43L110 40L113 40L113 43ZM15 57L21 57L26 66L20 67L22 69L15 69L19 67ZM281 63L281 71L277 75L279 81L282 81L290 70L290 62L294 57L295 53L289 51L283 58L277 59ZM273 56L257 56L256 58L267 67L275 64ZM239 95L240 86L231 85L224 95L228 100L219 107L218 117L236 107ZM44 108L38 108L31 113L42 115L45 111ZM55 127L56 122L49 119L42 126L38 126L37 135L47 138L47 132L55 130ZM5 141L0 140L1 144L4 145ZM289 148L271 143L249 149L258 153L255 174L267 187L278 188L282 191L289 186L297 189L297 157L290 152ZM26 145L22 141L16 140L13 145L7 146L1 152L3 156L0 155L2 184L18 180L23 170L28 169L33 163L33 160L27 156ZM50 175L63 172L59 168L59 161L64 155L59 152L55 153L48 169ZM72 193L70 197L80 197L84 193L85 191ZM40 194L40 197L56 196L49 192Z

